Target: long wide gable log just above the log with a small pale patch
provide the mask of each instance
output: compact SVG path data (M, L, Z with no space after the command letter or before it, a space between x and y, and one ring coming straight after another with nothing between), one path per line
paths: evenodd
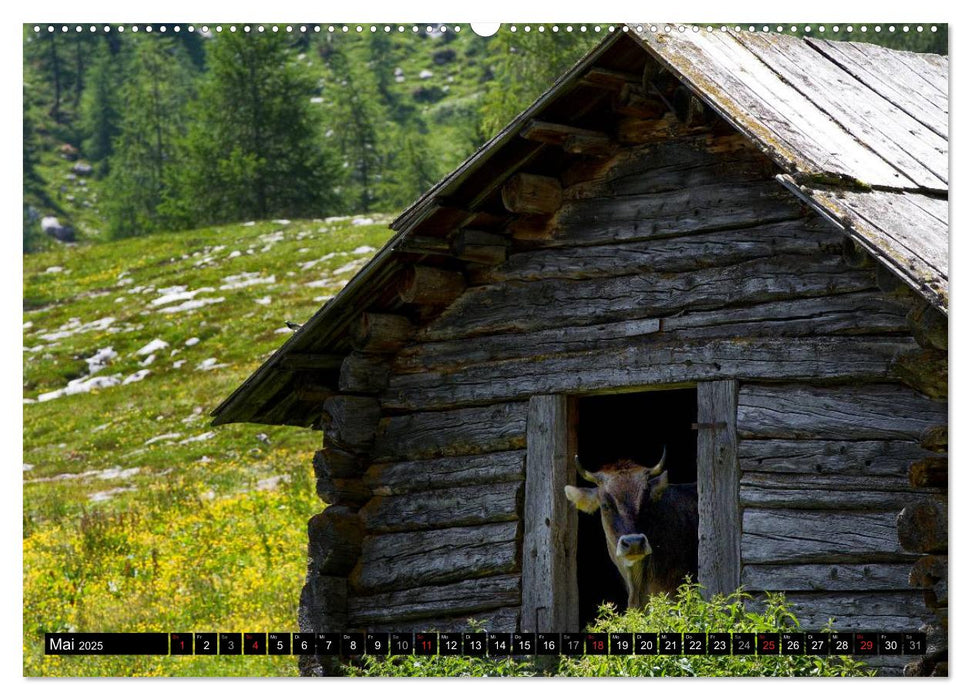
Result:
M469 289L418 339L449 340L819 297L873 289L874 283L872 270L847 270L834 254L775 256L677 273L486 285Z

